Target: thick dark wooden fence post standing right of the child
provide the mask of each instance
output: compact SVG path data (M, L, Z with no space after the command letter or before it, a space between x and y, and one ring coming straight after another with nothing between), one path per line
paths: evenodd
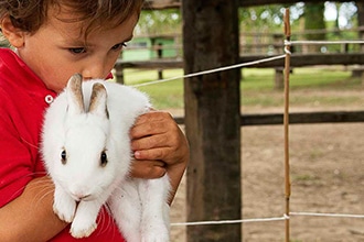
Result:
M184 72L238 62L237 0L183 0ZM184 80L191 145L188 220L232 220L242 213L239 69ZM240 241L239 223L188 227L188 241Z

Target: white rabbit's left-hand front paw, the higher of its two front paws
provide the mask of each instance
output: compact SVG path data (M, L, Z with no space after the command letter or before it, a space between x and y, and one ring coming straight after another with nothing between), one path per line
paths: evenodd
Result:
M76 201L72 198L54 198L53 211L58 218L65 222L72 222L75 217Z

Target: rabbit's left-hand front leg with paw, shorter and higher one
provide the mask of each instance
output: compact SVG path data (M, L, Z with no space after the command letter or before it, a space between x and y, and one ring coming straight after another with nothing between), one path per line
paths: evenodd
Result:
M72 222L75 217L76 201L62 189L55 185L53 211L58 218L65 222Z

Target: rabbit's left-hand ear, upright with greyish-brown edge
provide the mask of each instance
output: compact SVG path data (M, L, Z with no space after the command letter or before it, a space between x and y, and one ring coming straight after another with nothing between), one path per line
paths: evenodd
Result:
M82 92L81 74L73 75L67 84L67 100L68 100L68 113L83 113L85 112L84 96Z

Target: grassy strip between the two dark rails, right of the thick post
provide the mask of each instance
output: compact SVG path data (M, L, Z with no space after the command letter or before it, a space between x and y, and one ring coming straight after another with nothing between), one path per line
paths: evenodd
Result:
M282 107L283 91L274 89L274 69L244 69L240 82L242 105L256 107ZM295 68L290 75L290 103L293 106L345 106L358 103L360 97L335 96L325 91L355 90L362 88L360 78L351 72L335 68ZM319 94L319 91L321 94Z

